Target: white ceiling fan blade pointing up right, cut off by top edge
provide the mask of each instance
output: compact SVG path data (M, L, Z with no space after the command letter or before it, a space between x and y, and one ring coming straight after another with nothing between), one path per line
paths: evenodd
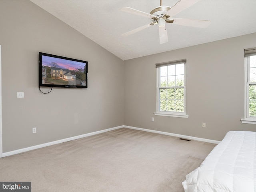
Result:
M200 0L180 0L178 3L176 3L170 10L168 10L165 15L168 15L170 17L178 14L179 12L185 10L186 8L189 8L190 6L194 5Z

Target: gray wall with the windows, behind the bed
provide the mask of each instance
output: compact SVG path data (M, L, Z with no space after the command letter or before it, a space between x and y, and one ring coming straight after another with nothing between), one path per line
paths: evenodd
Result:
M244 49L255 46L256 34L249 34L126 60L124 124L212 140L222 140L229 130L255 131L256 125L240 121L244 118ZM155 64L180 59L187 59L188 118L154 116Z

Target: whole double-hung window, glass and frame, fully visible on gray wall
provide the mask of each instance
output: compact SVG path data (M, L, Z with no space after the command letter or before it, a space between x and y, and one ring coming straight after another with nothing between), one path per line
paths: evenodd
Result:
M156 64L157 106L155 115L186 115L186 60Z

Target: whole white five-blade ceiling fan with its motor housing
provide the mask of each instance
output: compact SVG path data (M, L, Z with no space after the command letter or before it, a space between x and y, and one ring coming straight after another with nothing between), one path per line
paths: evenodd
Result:
M174 6L163 6L162 0L160 0L160 6L154 8L150 14L146 12L142 12L130 7L124 7L121 10L136 14L143 17L150 18L153 22L150 24L146 24L144 26L141 26L139 28L136 28L134 30L131 30L129 32L126 32L122 34L122 36L128 36L131 34L134 34L140 30L143 30L145 28L148 28L150 26L153 26L155 24L158 24L158 30L159 30L159 39L160 44L168 42L168 35L166 30L166 23L172 23L177 25L183 25L183 26L191 26L191 27L199 27L199 28L206 28L210 25L210 21L206 20L193 20L193 19L182 19L182 18L173 18L174 15L178 14L179 12L185 10L186 8L189 8L190 6L194 5L196 2L200 0L180 0L178 3L176 3Z

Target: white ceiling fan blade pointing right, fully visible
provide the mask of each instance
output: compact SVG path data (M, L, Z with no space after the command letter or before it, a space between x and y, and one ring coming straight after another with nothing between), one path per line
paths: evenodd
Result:
M174 20L172 24L190 26L190 27L206 28L211 24L211 21L206 21L206 20L181 19L181 18L172 18L172 19Z

